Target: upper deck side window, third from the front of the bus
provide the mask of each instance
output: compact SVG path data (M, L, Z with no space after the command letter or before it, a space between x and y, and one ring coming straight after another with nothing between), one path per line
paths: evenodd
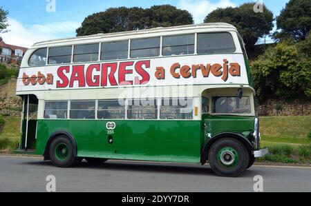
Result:
M160 56L160 37L133 39L131 41L131 58Z

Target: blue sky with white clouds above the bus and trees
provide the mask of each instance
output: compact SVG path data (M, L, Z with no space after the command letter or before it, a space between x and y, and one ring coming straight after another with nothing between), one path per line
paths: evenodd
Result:
M289 0L258 1L263 1L277 16ZM195 23L202 23L216 8L236 7L246 2L257 0L1 0L0 7L9 12L10 31L0 35L8 44L30 47L39 41L75 37L75 30L88 15L111 7L149 8L171 4L188 10Z

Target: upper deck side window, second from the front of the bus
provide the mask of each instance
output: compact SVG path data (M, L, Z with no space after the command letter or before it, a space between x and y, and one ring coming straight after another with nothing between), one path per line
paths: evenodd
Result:
M194 54L194 34L163 37L163 56Z

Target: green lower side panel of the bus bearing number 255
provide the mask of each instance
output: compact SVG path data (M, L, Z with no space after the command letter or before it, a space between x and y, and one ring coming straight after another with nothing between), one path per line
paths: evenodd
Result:
M78 156L142 161L199 163L202 148L201 121L38 120L37 153L44 154L48 138L66 130L77 141ZM109 136L111 135L111 136ZM109 143L109 138L113 143Z

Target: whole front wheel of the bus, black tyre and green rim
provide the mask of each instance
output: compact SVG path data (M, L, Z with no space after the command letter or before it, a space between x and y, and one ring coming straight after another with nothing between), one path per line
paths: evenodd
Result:
M209 165L219 176L240 176L249 165L249 153L240 141L223 138L211 146Z

